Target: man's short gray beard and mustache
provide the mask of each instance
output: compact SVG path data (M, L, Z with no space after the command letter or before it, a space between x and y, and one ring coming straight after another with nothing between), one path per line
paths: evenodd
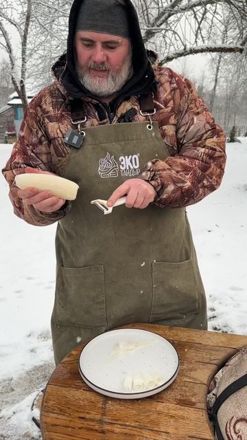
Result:
M92 78L89 74L89 67L99 70L107 69L109 72L108 78ZM76 65L76 73L82 85L96 96L113 95L116 91L119 91L132 76L132 51L130 50L119 72L115 72L107 63L92 63L89 67L80 69L78 64Z

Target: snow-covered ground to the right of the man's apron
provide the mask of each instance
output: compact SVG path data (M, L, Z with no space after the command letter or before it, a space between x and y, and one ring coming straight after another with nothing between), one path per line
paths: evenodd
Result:
M247 138L226 144L220 188L188 208L209 329L247 335ZM247 342L246 342L247 344Z

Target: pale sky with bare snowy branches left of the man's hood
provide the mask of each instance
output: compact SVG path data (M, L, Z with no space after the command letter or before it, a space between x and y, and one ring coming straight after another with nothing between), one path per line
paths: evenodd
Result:
M69 8L65 0L5 0L4 5L0 5L0 45L8 54L12 84L24 109L27 72L32 83L36 78L40 83L45 65L49 63L50 69L56 56L64 50ZM13 34L19 37L17 54Z

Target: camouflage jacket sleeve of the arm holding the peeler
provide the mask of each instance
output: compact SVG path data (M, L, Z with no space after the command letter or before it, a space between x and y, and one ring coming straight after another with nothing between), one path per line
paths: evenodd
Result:
M181 76L176 76L174 108L178 153L153 160L142 174L156 190L154 203L163 208L192 205L216 190L226 162L224 132L193 84Z

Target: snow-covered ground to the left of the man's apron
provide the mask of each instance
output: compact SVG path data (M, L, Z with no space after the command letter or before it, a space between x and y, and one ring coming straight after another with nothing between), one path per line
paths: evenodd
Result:
M0 145L0 168L11 146ZM13 214L0 176L0 440L39 439L30 408L54 369L56 225L37 228Z

